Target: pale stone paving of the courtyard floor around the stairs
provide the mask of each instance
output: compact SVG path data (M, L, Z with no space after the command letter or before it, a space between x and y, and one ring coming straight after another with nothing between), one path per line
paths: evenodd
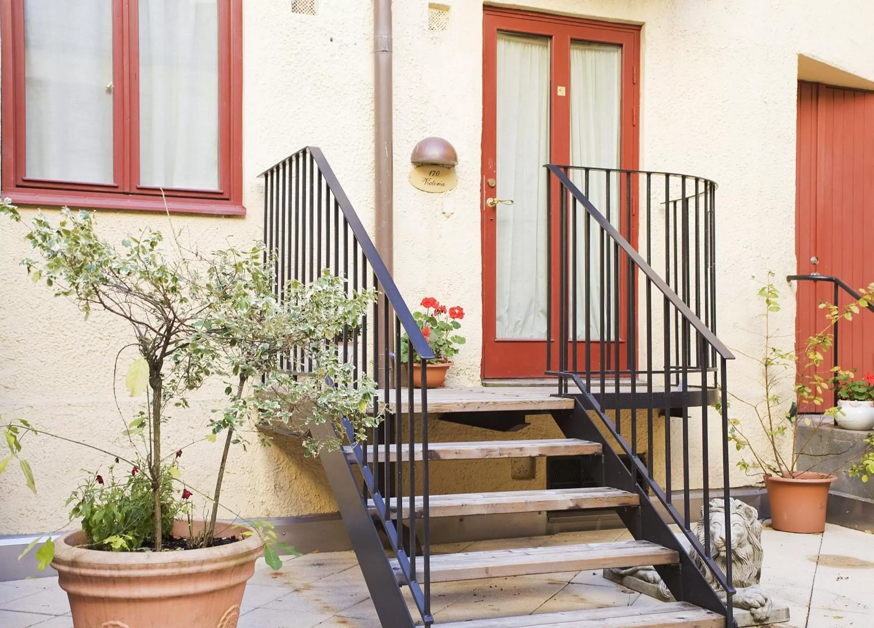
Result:
M455 543L435 552L621 541L623 530L565 533L506 542ZM790 535L766 526L762 584L791 618L772 628L874 625L874 536L827 526L824 535ZM412 599L407 595L413 610ZM438 622L617 604L659 604L611 583L599 570L436 583ZM73 628L57 577L0 583L3 628ZM352 552L309 554L274 572L260 559L246 587L238 628L379 628ZM415 614L414 614L415 617Z

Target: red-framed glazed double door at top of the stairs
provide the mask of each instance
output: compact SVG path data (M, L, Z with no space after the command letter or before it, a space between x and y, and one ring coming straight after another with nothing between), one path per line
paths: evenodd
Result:
M547 259L545 249L549 233L558 239L558 210L545 207L543 166L635 169L639 42L640 29L633 25L485 9L485 378L544 376L547 312L551 335L558 330L559 273L558 260ZM556 282L551 304L546 303L547 265ZM579 343L580 352L584 345Z

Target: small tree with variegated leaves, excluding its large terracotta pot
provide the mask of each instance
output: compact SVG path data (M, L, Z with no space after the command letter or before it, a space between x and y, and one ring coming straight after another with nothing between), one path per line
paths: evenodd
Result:
M0 211L21 220L9 199L0 204ZM376 394L375 383L344 364L329 344L344 326L357 326L375 299L372 290L348 293L343 279L327 272L310 285L290 281L277 286L272 260L264 263L260 243L202 255L185 249L174 237L172 254L168 254L162 234L145 229L122 240L117 248L97 235L94 214L88 211L64 208L57 226L40 212L25 238L42 258L22 261L31 279L45 282L55 296L73 300L86 318L100 308L127 321L133 331L134 342L127 346L135 347L139 357L131 363L125 383L132 397L145 392L146 402L124 434L134 449L135 440L140 439L144 453L142 462L139 453L129 460L117 457L115 462L132 461L130 475L142 473L149 480L149 518L156 550L162 549L163 538L170 533L164 511L178 512L168 503L168 483L181 481L177 459L182 449L174 447L170 455L164 455L162 428L171 408L187 407L187 395L208 379L225 377L227 403L216 411L218 418L208 423L206 438L215 440L225 432L225 444L212 491L212 514L198 540L202 546L210 545L215 533L230 446L245 442L240 434L247 425L294 420L306 451L316 454L339 442L312 438L309 424L331 421L341 425L347 418L361 435L366 427L379 423L380 418L367 411ZM274 296L274 288L281 289L284 300ZM288 373L288 358L293 353L314 364L309 376ZM310 412L301 418L295 409L303 407ZM16 436L18 451L18 431L32 428L21 422L4 430ZM96 477L99 482L87 483L78 493L71 519L93 504L95 492L107 496L109 487L103 487L100 475ZM119 495L129 497L142 483L128 481L124 486L128 488ZM185 488L186 499L185 493L192 494Z

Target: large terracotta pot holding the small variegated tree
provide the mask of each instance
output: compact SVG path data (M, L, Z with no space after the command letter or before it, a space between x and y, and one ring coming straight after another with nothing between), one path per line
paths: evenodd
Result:
M195 524L195 533L204 528ZM220 529L220 528L219 528ZM234 526L219 536L239 536ZM188 534L188 522L173 526ZM75 628L235 628L246 580L263 542L253 534L214 548L105 552L76 547L81 531L60 538L52 567L66 590Z

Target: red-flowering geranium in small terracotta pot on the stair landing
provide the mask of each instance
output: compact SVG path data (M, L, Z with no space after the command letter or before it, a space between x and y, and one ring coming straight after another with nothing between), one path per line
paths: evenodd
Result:
M461 328L461 319L464 318L464 309L461 306L446 307L434 297L422 299L421 306L424 312L413 312L413 318L422 330L422 335L428 342L428 346L434 351L434 360L426 363L427 387L442 388L446 384L447 371L452 367L452 358L458 353L458 345L464 344L464 336L456 332ZM400 359L409 369L409 336L404 333L400 338ZM420 364L421 358L413 349L413 364ZM406 381L406 377L405 377ZM420 387L421 369L413 368L413 386Z

